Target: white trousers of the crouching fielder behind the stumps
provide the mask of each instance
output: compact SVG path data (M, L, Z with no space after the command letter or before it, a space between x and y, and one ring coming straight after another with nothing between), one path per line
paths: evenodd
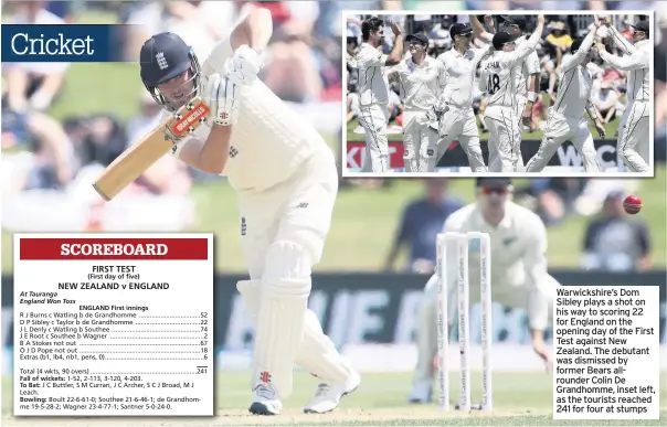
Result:
M544 281L547 287L559 286L558 281L549 275ZM456 286L451 285L447 295L451 329L457 317ZM531 330L543 331L550 324L551 299L551 296L534 287L496 285L491 288L494 303L527 310L528 327ZM479 281L470 280L469 301L470 307L479 301ZM413 376L415 384L433 381L435 375L433 359L437 354L437 276L434 275L426 282L417 314L417 363Z

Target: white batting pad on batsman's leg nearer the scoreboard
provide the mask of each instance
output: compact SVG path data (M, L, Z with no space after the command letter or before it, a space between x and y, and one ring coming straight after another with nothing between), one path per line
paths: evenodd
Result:
M263 280L255 334L255 385L292 394L293 365L304 337L310 278Z

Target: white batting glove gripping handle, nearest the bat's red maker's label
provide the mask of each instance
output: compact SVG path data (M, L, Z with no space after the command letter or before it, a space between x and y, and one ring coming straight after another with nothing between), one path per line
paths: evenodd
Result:
M227 77L218 73L209 76L204 95L213 124L230 126L239 121L240 93L240 87Z

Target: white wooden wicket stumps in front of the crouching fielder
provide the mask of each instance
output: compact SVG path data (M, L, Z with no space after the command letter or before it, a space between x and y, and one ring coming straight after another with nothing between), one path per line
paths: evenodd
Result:
M470 331L469 331L469 275L468 248L470 242L479 243L479 276L481 306L481 404L473 405L470 396ZM460 353L460 396L457 410L491 412L491 253L490 238L487 233L441 233L436 238L437 254L437 359L440 408L449 410L449 364L447 350L449 345L449 307L447 282L447 246L454 243L456 254L456 293L458 318L458 346Z

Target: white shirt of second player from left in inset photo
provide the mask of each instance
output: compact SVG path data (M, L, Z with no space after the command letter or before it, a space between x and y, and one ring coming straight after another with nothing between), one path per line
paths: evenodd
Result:
M388 75L396 75L401 100L406 111L430 111L444 83L444 70L440 62L426 56L421 64L412 57L401 61L389 70Z

